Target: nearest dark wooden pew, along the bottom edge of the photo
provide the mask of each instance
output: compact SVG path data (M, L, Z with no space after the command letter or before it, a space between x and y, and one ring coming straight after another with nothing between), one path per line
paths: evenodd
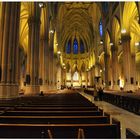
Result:
M77 138L83 129L85 138L120 138L116 124L0 124L0 138Z

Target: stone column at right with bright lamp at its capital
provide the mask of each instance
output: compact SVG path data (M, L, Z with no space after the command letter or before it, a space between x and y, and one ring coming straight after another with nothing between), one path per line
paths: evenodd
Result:
M124 73L124 90L133 90L131 84L131 52L130 52L130 36L122 36L123 48L123 73Z

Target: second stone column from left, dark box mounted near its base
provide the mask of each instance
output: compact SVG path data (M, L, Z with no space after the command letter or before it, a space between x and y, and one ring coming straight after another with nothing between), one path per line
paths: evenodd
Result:
M29 42L25 94L37 94L39 88L40 7L34 3L34 15L28 19Z

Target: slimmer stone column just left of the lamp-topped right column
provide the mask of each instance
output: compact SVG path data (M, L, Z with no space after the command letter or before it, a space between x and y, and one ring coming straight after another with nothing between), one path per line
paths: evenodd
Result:
M119 90L118 85L119 74L118 74L118 55L117 49L115 46L111 46L112 51L112 77L113 77L113 90Z

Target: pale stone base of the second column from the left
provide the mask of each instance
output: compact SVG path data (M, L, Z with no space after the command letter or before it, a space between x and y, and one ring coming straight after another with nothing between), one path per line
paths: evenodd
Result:
M40 93L39 85L27 85L26 88L25 88L25 95L39 94L39 93Z

